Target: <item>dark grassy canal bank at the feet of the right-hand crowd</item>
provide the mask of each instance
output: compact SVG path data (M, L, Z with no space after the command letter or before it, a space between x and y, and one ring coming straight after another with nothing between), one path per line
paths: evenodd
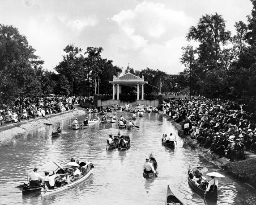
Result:
M209 148L200 147L196 139L183 135L182 123L171 121L172 125L178 131L179 137L183 138L183 146L191 147L195 152L212 162L222 170L226 171L235 178L256 188L256 154L253 152L244 152L244 160L234 162L227 161L226 158L219 158L215 153L210 154Z

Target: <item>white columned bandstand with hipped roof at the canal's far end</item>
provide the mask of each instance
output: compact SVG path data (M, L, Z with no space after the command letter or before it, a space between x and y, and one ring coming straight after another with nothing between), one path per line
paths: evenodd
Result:
M119 93L121 91L121 86L137 86L137 100L140 99L141 90L141 100L144 100L144 85L148 83L144 81L144 78L140 78L134 74L128 72L118 78L114 78L113 81L109 81L113 85L113 98L115 100L115 94L117 94L117 100L119 100Z

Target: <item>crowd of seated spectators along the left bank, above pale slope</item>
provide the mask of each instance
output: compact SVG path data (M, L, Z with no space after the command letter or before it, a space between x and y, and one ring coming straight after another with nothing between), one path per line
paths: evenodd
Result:
M45 117L58 112L75 109L77 98L73 97L47 97L47 98L20 98L14 99L9 105L3 104L0 109L0 125L5 123L18 123L21 119Z

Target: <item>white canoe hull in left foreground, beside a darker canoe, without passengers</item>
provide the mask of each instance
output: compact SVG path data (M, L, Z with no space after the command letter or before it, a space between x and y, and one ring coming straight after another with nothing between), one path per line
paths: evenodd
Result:
M79 184L82 181L86 180L90 176L92 171L93 171L93 168L89 172L87 172L87 174L85 174L84 176L81 176L81 178L79 178L79 179L77 179L73 182L70 182L66 185L60 186L56 189L48 189L47 186L43 186L42 189L41 189L41 196L45 197L45 196L48 196L48 195L53 194L53 193L58 193L58 192L62 192L64 190L67 190L67 189L75 186L76 184Z

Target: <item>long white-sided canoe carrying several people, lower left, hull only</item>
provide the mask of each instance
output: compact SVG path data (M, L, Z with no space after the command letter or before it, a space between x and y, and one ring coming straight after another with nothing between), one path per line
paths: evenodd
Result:
M85 166L83 166L81 168L85 168L85 173L83 175L76 177L75 180L73 180L71 182L65 181L64 184L60 185L59 187L57 186L57 188L55 188L55 189L49 189L47 185L43 185L43 187L41 189L41 196L45 197L50 194L58 193L58 192L67 190L67 189L75 186L76 184L81 183L82 181L86 180L90 176L90 174L93 171L94 166L90 162L90 164L86 164Z

